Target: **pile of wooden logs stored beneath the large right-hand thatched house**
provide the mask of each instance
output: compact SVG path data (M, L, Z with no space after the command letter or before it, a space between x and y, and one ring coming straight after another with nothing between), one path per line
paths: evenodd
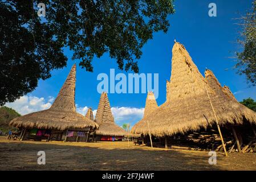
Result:
M231 129L222 128L222 137L226 151L231 152L256 152L256 135L248 132L236 132L239 147L237 146L237 140L234 137L234 133ZM198 131L189 133L187 135L174 135L171 137L161 138L153 142L154 147L166 148L182 148L185 150L197 150L197 151L217 151L223 152L220 134L217 129L210 129L207 131ZM239 150L238 150L239 149Z

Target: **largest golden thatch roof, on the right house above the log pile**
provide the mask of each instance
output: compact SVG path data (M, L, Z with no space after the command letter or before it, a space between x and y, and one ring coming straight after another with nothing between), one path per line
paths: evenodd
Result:
M140 127L133 127L133 133L148 134L147 123L156 136L183 134L212 126L216 121L206 89L220 125L241 124L243 118L256 121L254 111L222 96L218 90L220 85L208 79L213 77L206 76L205 79L201 75L182 44L175 43L172 53L170 99L144 118Z

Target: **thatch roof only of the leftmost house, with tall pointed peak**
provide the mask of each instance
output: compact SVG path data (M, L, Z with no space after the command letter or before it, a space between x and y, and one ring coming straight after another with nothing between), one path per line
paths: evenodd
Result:
M14 127L39 129L84 129L98 125L82 114L76 113L75 107L76 65L73 65L54 104L50 109L38 111L15 118L10 122Z

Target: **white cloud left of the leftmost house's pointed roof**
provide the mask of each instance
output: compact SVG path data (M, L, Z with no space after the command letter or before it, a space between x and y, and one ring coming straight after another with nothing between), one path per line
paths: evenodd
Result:
M48 101L46 101L43 97L35 97L35 96L22 96L14 102L7 103L7 107L11 107L16 110L19 114L29 114L39 110L45 110L51 107L52 98L49 97Z

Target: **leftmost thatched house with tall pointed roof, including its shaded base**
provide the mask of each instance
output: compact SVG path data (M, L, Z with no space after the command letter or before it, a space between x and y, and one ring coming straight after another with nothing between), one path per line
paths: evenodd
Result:
M15 118L11 126L22 130L21 139L84 141L99 127L94 121L76 113L76 65L64 82L50 109Z

